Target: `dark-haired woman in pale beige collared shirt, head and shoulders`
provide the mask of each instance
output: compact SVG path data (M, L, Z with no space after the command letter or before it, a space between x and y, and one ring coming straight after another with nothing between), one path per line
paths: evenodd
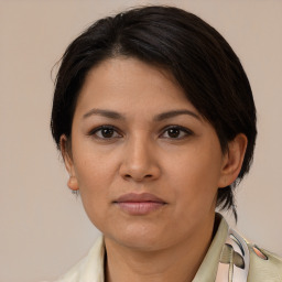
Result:
M256 107L203 20L145 7L94 23L63 56L51 127L68 187L102 232L58 281L281 281L281 259L215 213L237 217Z

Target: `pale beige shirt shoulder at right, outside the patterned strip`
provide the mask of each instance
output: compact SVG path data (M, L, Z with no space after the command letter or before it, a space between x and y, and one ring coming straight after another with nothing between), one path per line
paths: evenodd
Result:
M282 258L268 250L248 242L250 252L250 269L248 282L282 281Z

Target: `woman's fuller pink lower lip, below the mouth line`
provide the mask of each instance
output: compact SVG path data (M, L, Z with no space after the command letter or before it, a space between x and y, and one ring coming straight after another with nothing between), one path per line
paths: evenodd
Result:
M165 204L159 202L120 202L119 208L130 215L147 215L162 208Z

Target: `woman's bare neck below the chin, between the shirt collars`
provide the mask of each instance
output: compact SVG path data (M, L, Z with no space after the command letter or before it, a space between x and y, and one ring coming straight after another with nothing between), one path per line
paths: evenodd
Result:
M128 248L105 238L106 281L189 282L196 275L213 239L215 217L185 240L153 251Z

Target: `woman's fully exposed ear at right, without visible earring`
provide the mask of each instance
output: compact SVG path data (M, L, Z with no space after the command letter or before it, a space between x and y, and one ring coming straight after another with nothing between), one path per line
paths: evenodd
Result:
M228 150L223 159L221 174L219 177L218 187L223 188L232 184L238 174L240 173L248 139L245 134L240 133L228 143Z

